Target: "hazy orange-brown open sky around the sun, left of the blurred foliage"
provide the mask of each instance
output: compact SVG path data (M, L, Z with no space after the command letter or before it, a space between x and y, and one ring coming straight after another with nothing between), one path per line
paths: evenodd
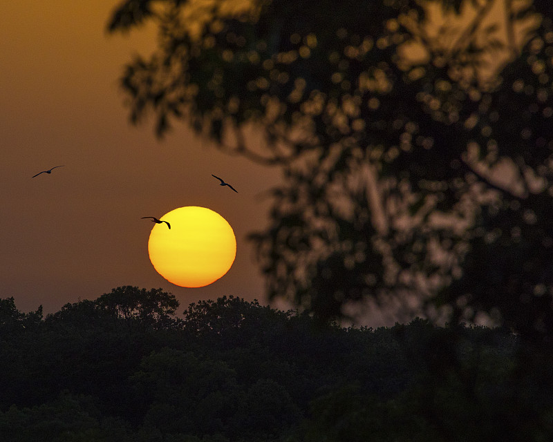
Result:
M267 224L269 201L258 195L279 170L229 157L184 125L160 141L151 122L129 124L118 78L134 52L149 53L156 34L107 35L117 4L0 2L0 298L50 313L135 285L171 291L180 311L223 295L265 302L245 236ZM189 205L223 215L237 241L227 275L198 289L153 269L153 224L140 219Z

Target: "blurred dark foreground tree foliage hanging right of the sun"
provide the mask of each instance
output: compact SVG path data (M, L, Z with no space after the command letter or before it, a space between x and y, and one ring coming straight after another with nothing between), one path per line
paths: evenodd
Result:
M283 169L254 233L270 298L553 336L549 1L126 0L158 49L126 65L133 122L183 120ZM261 146L261 147L259 147ZM418 305L413 305L413 299Z

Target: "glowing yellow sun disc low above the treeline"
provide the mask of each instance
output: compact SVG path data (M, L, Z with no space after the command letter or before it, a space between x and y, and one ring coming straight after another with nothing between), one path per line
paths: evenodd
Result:
M153 267L180 287L204 287L229 271L236 258L236 237L230 224L211 209L174 209L154 224L148 241Z

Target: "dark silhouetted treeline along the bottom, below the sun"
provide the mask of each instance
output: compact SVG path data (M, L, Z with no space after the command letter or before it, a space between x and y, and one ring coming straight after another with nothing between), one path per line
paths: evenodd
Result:
M1 441L551 440L553 364L504 330L177 309L130 286L46 317L1 299Z

